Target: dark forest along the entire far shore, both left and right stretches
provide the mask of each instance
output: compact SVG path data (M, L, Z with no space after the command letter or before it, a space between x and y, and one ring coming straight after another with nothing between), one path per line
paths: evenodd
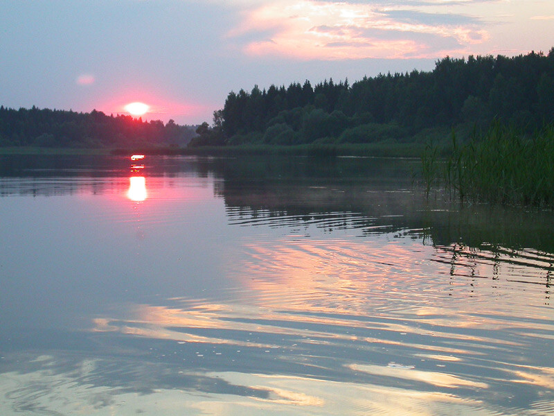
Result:
M453 130L463 141L493 122L521 132L554 122L554 48L511 58L447 57L433 71L366 76L352 85L254 86L230 92L211 125L0 106L0 147L392 146L446 141Z

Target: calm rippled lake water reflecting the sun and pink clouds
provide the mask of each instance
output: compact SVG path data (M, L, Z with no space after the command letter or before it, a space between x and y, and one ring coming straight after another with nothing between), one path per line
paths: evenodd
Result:
M554 415L554 214L414 168L0 157L0 414Z

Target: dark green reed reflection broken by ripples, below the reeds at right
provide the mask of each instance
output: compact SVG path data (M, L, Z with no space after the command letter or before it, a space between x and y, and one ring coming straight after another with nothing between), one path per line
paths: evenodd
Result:
M551 211L528 211L490 205L428 210L424 241L451 253L451 276L546 286L554 270Z

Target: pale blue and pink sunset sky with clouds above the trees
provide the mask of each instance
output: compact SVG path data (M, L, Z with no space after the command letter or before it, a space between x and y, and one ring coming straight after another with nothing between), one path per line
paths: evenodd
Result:
M553 46L554 0L0 0L0 104L211 123L254 85Z

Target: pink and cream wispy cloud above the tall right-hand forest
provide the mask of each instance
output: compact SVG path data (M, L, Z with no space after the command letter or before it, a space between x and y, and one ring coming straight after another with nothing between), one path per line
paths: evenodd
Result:
M244 9L228 37L249 55L300 60L436 57L489 35L477 17L421 8L483 1L265 1Z

